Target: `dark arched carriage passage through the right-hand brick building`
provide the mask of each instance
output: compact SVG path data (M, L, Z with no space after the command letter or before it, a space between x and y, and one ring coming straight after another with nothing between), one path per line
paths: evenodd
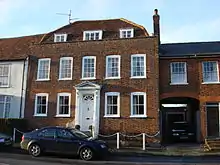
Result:
M199 141L199 100L169 97L160 101L162 143Z

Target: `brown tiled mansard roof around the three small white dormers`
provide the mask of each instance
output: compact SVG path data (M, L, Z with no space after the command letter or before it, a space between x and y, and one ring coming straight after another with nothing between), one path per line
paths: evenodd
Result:
M129 21L124 18L118 19L108 19L108 20L83 20L76 21L71 24L65 25L59 29L56 29L52 32L49 32L44 35L41 39L41 42L49 41L53 42L53 34L56 33L67 33L70 34L69 41L82 40L83 31L92 31L92 30L103 30L105 38L118 38L115 36L115 33L118 34L118 30L121 28L134 28L135 34L138 36L149 36L147 30L132 21ZM106 33L107 32L107 33Z

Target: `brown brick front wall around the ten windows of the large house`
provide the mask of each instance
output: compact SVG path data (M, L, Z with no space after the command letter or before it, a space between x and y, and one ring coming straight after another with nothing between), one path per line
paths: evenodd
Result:
M130 78L130 55L146 54L147 78ZM101 90L100 107L100 131L103 133L124 131L129 133L146 132L154 134L159 130L158 126L158 45L154 37L111 40L111 41L84 41L75 43L54 43L35 45L30 48L29 81L27 90L27 102L25 118L28 118L33 127L44 125L65 125L74 119L75 115L75 89L76 84L81 83L81 63L85 55L96 56L96 82L104 85ZM121 55L121 79L104 80L105 56ZM62 56L73 57L73 80L58 81L59 59ZM50 81L36 81L37 60L39 58L51 58ZM104 93L120 92L121 118L103 118ZM130 93L147 93L147 118L131 119L130 116ZM48 117L33 117L34 99L36 93L49 93ZM55 118L58 92L70 92L71 118Z

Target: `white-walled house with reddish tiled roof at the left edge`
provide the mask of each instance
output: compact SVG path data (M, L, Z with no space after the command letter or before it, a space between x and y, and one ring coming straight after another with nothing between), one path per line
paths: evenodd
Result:
M26 50L37 36L0 39L0 118L23 118L27 85Z

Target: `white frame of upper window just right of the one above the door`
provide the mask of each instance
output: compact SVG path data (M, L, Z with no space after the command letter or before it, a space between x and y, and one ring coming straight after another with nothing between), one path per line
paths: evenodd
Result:
M108 77L108 59L110 58L118 58L118 76L110 76ZM105 69L105 77L106 79L120 79L121 78L121 56L120 55L108 55L106 56L106 69Z

